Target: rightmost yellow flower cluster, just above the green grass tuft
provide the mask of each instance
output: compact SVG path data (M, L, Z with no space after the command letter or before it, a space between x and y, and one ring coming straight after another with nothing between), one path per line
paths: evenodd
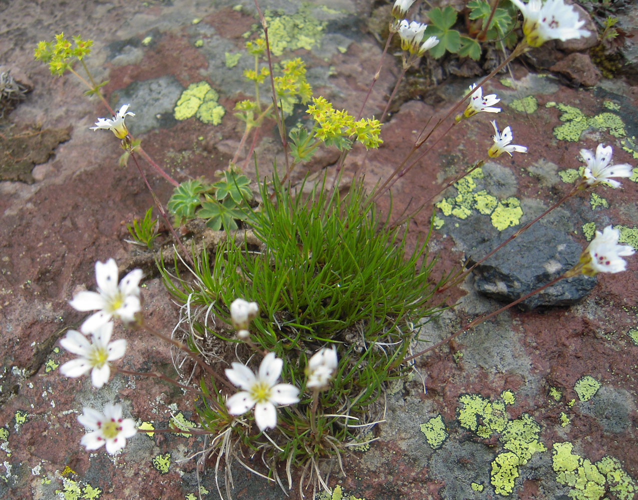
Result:
M378 148L383 142L379 137L380 121L369 118L355 121L345 109L333 109L332 104L324 97L313 98L313 104L308 106L306 112L316 121L313 128L315 137L327 145L337 146L340 150L350 149L352 140L358 140L369 149Z

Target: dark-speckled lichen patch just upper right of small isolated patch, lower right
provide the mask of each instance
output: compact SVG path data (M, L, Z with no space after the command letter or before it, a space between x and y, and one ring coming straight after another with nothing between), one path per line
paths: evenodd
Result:
M492 402L478 394L459 396L457 415L461 427L475 432L484 439L503 432L507 425L505 403L499 399Z

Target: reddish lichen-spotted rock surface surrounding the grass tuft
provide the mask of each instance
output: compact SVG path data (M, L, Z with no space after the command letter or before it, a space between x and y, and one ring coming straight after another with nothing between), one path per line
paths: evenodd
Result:
M353 114L359 110L382 51L374 36L360 29L372 3L323 2L325 15L340 14L323 27L322 43L313 45L310 52L296 49L284 54L303 57L315 82L315 94L327 96L336 108L347 107ZM181 392L152 380L131 381L116 375L107 388L96 391L87 379L65 379L59 374L57 368L70 355L57 342L84 317L68 306L68 300L78 287L93 289L96 260L114 257L126 261L132 247L124 241L128 238L125 225L142 215L152 198L132 164L118 166L122 151L113 135L89 130L98 116L107 116L101 103L83 96L85 88L72 75L51 77L45 64L33 61L33 48L39 40L51 40L61 31L93 38L94 50L87 64L97 79L110 80L105 90L111 105L133 82L170 77L177 88L209 81L227 110L221 125L207 125L196 118L177 122L169 107L168 112L158 113L158 125L149 130L138 132L133 119L130 128L149 154L179 181L212 177L215 170L227 165L242 132L242 123L230 109L244 98L243 90L233 80L224 80L230 78L230 70L227 75L223 69L225 52L241 50L242 34L257 22L253 3L241 4L243 8L237 10L234 2L221 0L212 6L204 1L117 0L15 1L0 7L3 60L19 67L34 86L33 93L4 121L3 135L14 130L11 127L72 126L70 140L59 144L47 162L34 167L33 184L0 182L0 497L151 500L197 495L193 460L177 461L200 451L201 439L140 433L115 457L103 450L89 456L79 444L83 429L76 418L84 405L99 407L105 401L120 400L126 416L153 421L156 427L167 427L177 407L189 420L197 417L192 402ZM297 3L278 0L274 7L294 13ZM262 8L269 8L266 0ZM193 24L195 19L200 21ZM627 31L630 29L635 27L628 26ZM144 45L142 41L149 36L152 42ZM195 47L197 40L204 42L200 49ZM587 56L575 52L567 57L579 64ZM385 58L366 108L370 113L380 115L399 64L398 58ZM428 201L461 169L486 156L493 133L490 119L498 119L501 128L512 126L514 142L528 146L526 155L501 156L494 165L486 166L477 188L466 186L464 192L450 188L436 197L437 202L452 200L450 204L456 203L458 209L449 216L443 216L441 208L436 212L443 221L431 244L432 252L441 255L438 273L471 253L476 234L496 231L494 216L481 215L477 208L486 195L501 202L516 199L522 215L504 209L503 216L514 223L526 222L568 191L565 179L573 174L568 169L582 165L579 149L595 149L600 142L611 144L615 163L636 165L636 87L623 80L601 80L591 89L574 89L551 76L537 77L517 63L512 71L514 83L501 75L487 85L486 92L501 97L500 114L479 115L454 126L393 188L397 213L408 204L412 209ZM355 149L349 156L350 169L365 163L371 185L385 178L397 159L410 150L427 120L432 117L435 123L442 117L470 83L444 82L424 93L425 100L402 103L383 126L382 148L375 155ZM148 97L149 102L159 100L156 97ZM131 105L143 119L145 110L135 102ZM258 139L256 152L263 175L272 168L274 158L283 165L283 156L274 124L264 127ZM322 153L313 171L334 165L333 153ZM172 187L154 170L146 165L144 169L156 195L166 201ZM302 174L299 172L299 178ZM571 234L583 246L592 224L596 229L610 223L621 225L626 243L637 246L636 177L622 179L619 190L597 188L596 197L581 193L554 211L547 223ZM472 202L464 205L468 197ZM462 215L463 207L482 218L467 227L467 218L454 215ZM424 210L411 223L413 242L428 231L430 215L431 211ZM502 219L496 217L499 221ZM595 463L606 455L614 457L620 464L617 476L636 485L638 259L628 257L627 261L625 273L600 277L592 294L574 307L503 313L464 333L450 347L420 359L419 374L388 395L386 421L374 431L378 441L367 451L347 455L347 477L333 473L330 487L339 485L346 494L369 500L498 497L494 484L498 481L491 476L493 461L508 448L499 432L485 437L464 427L460 401L471 395L494 402L505 398L503 391L507 390L514 400L507 402L500 418L510 423L530 415L540 428L538 443L545 448L526 464L514 467L519 475L511 497L554 499L581 494L557 480L552 460L556 443L572 443L572 453L580 457L581 466L584 460ZM178 313L161 280L149 277L142 294L150 324L170 331ZM471 280L450 297L450 301L460 299L458 307L424 326L424 341L437 342L464 321L501 306L478 296ZM131 330L118 329L116 335L130 345L122 367L174 375L165 345ZM427 345L422 343L422 348ZM584 377L600 384L590 397L581 391L579 381L589 380ZM477 414L481 421L486 420L485 409ZM420 425L438 415L447 437L440 448L433 449ZM535 442L530 439L528 443ZM254 462L251 466L260 467L258 460ZM217 498L211 467L200 478L208 492L202 498ZM219 481L224 491L223 478ZM611 476L601 487L610 499L632 497L632 492L620 496L622 491L614 489L617 484ZM295 491L293 487L293 495ZM285 498L276 485L241 468L235 471L234 496ZM308 492L306 497L311 496Z

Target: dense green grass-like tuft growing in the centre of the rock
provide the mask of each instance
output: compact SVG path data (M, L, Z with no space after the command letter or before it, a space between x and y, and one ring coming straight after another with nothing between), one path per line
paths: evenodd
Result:
M193 255L193 276L160 269L184 305L184 336L193 349L217 360L219 368L237 361L235 356L244 362L251 350L235 337L228 307L237 297L254 300L260 317L251 342L281 358L283 381L300 388L300 403L279 409L278 426L268 437L251 425L252 413L237 425L204 401L201 422L219 436L218 452L237 453L230 443L239 441L244 451L259 450L273 474L286 464L289 483L292 467L301 467L311 482L321 481L325 458L356 443L378 417L375 403L385 384L404 375L406 367L399 365L415 340L412 320L436 312L431 298L440 283L429 279L427 238L406 256L405 230L379 220L374 205L366 208L360 186L345 195L322 183L309 194L302 194L303 186L292 192L276 177L261 186L261 208L248 220L262 243L258 251L230 240L214 257ZM208 345L219 345L211 336L230 343L228 348L209 352ZM325 345L336 347L339 365L330 387L318 393L315 413L304 370ZM226 388L212 379L202 381L202 388L224 407L219 390Z

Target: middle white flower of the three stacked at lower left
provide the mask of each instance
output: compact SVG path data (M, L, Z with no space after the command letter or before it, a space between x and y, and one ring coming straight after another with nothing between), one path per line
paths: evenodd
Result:
M111 375L110 361L119 360L126 351L126 340L123 338L109 342L112 333L113 323L110 321L96 328L92 334L93 342L89 342L79 331L69 330L60 344L80 357L64 363L60 367L61 374L75 378L91 370L93 386L101 388Z

